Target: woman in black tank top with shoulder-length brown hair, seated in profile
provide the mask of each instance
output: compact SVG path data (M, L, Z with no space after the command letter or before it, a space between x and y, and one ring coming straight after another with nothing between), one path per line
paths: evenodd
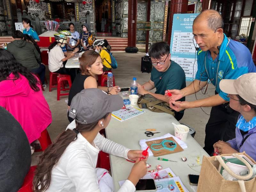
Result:
M83 53L83 55L79 58L80 69L81 72L76 75L74 82L70 88L68 95L68 110L71 104L73 97L81 92L83 89L88 88L98 88L102 91L108 92L109 94L117 94L120 92L118 86L115 87L101 87L98 86L97 79L98 75L103 73L103 65L102 60L100 58L100 54L93 51L88 50ZM68 112L69 115L69 112ZM69 122L72 122L74 119L68 116Z

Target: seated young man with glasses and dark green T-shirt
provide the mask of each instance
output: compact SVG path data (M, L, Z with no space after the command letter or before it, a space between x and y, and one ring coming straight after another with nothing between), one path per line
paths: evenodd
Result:
M164 96L167 89L183 89L186 87L186 77L183 69L171 61L170 46L165 42L153 44L149 49L151 63L154 66L151 72L150 80L143 85L138 84L138 93L141 95L150 94L159 100L169 102ZM149 90L156 88L156 92ZM185 97L180 98L185 101ZM175 118L179 121L184 115L184 110L175 111Z

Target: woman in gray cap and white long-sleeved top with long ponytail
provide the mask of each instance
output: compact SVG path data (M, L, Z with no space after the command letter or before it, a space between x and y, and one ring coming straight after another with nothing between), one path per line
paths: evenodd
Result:
M140 160L141 150L130 150L100 135L111 119L111 112L123 106L118 95L107 95L100 89L84 89L76 94L69 116L75 120L60 133L56 142L39 157L33 180L34 190L51 192L113 191L111 182L102 183L102 169L96 168L99 151L136 160L131 173L119 192L134 192L135 185L147 173L146 160ZM109 189L108 189L108 188Z

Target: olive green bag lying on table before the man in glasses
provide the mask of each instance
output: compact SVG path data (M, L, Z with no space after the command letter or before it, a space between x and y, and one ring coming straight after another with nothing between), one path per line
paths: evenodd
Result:
M138 99L139 108L148 108L150 111L157 113L168 113L175 116L173 109L169 107L169 103L159 100L150 94L141 95Z

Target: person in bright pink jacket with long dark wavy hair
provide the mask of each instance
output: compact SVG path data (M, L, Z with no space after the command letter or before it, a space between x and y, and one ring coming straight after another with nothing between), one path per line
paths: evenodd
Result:
M52 123L38 79L5 49L0 49L0 106L20 123L29 143Z

